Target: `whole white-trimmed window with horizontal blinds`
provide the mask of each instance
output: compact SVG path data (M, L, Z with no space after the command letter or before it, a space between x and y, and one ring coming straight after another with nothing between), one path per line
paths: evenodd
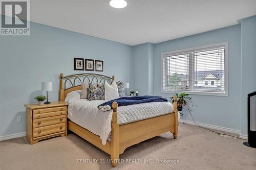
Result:
M162 92L228 95L228 42L162 53L161 56Z

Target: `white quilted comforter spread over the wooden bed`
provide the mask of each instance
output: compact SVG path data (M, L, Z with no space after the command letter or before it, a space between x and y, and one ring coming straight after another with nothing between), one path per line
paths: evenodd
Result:
M102 144L105 144L111 132L113 110L103 112L99 110L97 106L105 101L87 101L86 99L80 99L79 91L74 91L71 93L72 94L69 93L65 99L65 102L69 104L68 118L77 125L100 136ZM172 111L173 105L169 102L121 106L117 108L117 122L119 124L124 124Z

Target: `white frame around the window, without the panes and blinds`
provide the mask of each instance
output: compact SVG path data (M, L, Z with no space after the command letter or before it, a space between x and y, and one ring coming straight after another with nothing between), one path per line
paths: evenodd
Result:
M214 48L218 46L225 46L224 92L193 91L193 90L164 90L163 89L163 59L165 55L181 55L184 53L191 53L193 51L198 51L198 50L206 50L207 48ZM195 95L228 96L228 41L161 53L161 93L174 93L174 92L186 92L188 94L195 94Z

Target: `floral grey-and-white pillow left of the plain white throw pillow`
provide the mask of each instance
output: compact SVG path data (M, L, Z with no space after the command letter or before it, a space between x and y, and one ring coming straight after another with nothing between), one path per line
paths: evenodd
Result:
M104 84L92 84L89 83L89 94L88 100L95 101L95 100L104 100L105 99L105 88Z

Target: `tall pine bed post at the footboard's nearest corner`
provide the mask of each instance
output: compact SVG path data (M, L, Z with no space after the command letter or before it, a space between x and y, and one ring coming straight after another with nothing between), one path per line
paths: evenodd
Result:
M111 163L114 167L117 166L119 159L119 125L117 123L117 106L117 103L113 102L113 114L111 124Z

